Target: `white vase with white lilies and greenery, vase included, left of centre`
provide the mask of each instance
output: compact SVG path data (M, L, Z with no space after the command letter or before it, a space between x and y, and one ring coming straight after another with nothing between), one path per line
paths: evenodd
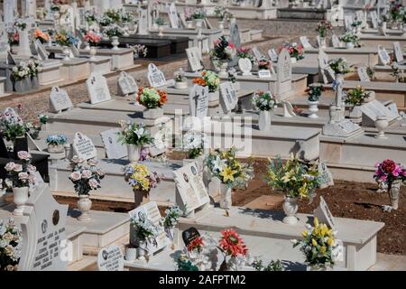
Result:
M140 159L140 152L144 145L152 144L152 136L143 124L138 125L124 120L119 122L121 130L118 133L118 141L126 144L128 160L136 163Z

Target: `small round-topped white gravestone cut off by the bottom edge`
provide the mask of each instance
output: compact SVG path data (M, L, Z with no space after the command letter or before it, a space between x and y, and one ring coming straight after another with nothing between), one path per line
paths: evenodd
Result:
M97 254L98 271L123 271L124 256L120 247L112 245L102 248Z

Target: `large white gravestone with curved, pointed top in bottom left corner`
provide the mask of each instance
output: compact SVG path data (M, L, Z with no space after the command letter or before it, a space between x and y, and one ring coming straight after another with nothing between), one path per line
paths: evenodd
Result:
M20 225L23 250L20 271L65 271L68 269L69 241L65 223L68 205L53 199L50 186L34 188L25 204Z

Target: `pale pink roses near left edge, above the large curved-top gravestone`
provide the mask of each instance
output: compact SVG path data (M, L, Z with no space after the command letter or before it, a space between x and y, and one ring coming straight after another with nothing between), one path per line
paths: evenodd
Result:
M32 155L25 151L17 153L20 163L9 162L5 164L8 181L13 182L14 188L29 187L35 184L36 167L31 164Z

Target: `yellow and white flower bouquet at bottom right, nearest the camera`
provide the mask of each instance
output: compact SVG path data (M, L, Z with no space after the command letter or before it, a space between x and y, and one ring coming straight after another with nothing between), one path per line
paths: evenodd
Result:
M319 224L315 217L314 227L306 225L303 231L303 240L292 240L293 247L300 246L300 251L305 256L305 263L309 271L325 271L333 268L338 260L341 246L337 242L336 234L326 224Z

